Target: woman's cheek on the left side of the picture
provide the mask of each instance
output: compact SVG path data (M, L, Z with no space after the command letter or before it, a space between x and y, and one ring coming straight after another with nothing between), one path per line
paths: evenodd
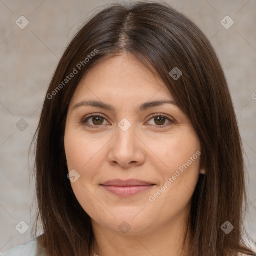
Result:
M79 174L77 182L71 183L79 201L93 199L91 193L96 195L95 184L105 161L104 145L108 140L106 137L97 138L95 135L86 135L77 130L66 130L64 137L66 159L69 171L74 169ZM92 203L91 201L89 203Z

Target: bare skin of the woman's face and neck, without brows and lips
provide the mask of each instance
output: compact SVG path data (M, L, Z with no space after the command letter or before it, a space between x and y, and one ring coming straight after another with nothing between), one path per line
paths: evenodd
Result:
M72 189L91 217L95 235L91 255L183 255L191 196L199 173L203 173L200 156L153 202L149 196L200 152L200 141L189 118L174 104L138 112L141 104L160 99L173 100L164 82L127 53L96 64L74 92L64 145L68 170L75 169L80 175L71 182ZM82 100L103 101L116 112L92 106L72 109ZM95 117L82 123L91 113L104 115L100 124ZM154 113L167 118L157 121ZM131 124L127 131L118 126L123 118ZM141 179L155 185L121 197L100 186L115 178ZM120 224L130 227L128 232L121 232Z

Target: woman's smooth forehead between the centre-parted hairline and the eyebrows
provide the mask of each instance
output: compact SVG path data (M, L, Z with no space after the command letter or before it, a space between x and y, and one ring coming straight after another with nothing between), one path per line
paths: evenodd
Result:
M121 54L102 59L81 79L73 100L110 97L147 99L156 96L172 99L159 76L149 71L132 54ZM114 103L114 102L113 102Z

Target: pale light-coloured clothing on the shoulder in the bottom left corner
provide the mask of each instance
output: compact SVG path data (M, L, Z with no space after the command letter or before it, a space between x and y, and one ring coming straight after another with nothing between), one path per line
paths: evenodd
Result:
M4 252L2 256L36 256L37 241L31 240L23 245L17 245Z

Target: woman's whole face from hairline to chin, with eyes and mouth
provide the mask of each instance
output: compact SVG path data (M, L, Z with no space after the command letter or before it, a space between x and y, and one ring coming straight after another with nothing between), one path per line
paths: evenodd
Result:
M169 103L148 104L159 100ZM163 81L134 56L104 59L83 77L64 146L72 189L93 227L142 234L187 217L200 141Z

